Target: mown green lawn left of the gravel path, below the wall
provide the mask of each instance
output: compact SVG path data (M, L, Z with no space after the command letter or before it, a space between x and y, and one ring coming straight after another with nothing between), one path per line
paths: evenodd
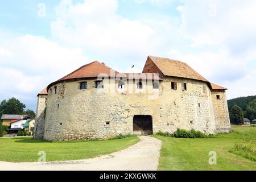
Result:
M40 139L0 138L0 161L38 162L38 152L46 152L47 162L88 159L122 150L139 141L138 137L89 142L46 142Z

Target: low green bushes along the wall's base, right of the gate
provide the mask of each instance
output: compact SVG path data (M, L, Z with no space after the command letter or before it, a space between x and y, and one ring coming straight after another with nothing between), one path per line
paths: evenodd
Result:
M175 138L208 138L207 135L201 133L201 131L195 131L195 130L187 131L183 129L177 129L177 131L175 131L175 133L173 134L163 133L161 131L158 131L156 135L160 135L163 137L175 137Z

